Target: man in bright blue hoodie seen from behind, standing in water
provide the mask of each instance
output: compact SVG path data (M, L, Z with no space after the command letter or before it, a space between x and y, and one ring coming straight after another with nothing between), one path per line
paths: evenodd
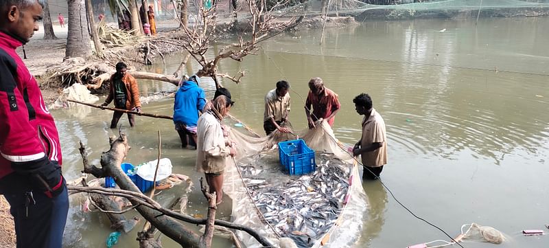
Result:
M198 84L200 84L200 78L193 75L189 80L183 82L176 92L174 124L181 139L182 148L187 148L189 143L196 148L198 111L202 111L206 105L204 90L198 87Z

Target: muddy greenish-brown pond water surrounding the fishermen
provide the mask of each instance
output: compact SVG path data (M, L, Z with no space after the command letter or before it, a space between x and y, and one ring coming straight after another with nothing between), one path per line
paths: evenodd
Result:
M369 93L384 117L388 132L388 165L382 179L397 199L418 216L447 231L478 223L506 235L498 247L547 247L546 236L522 236L522 229L549 224L549 18L369 22L358 27L284 34L264 44L243 63L225 61L220 71L246 71L238 85L225 81L237 103L233 115L262 133L263 100L277 80L292 83L290 120L305 128L301 96L307 80L324 79L339 94L342 111L334 129L342 142L360 137L360 120L352 99ZM218 47L215 47L218 49ZM180 56L157 62L150 71L172 73ZM211 82L204 82L211 95ZM143 95L173 91L163 82L141 82ZM172 114L173 99L150 102L143 111ZM78 139L99 164L108 149L110 113L87 107L52 111L62 133L65 174L78 177L82 168ZM162 154L174 172L193 170L195 152L182 150L167 120L139 117L124 128L132 150L127 161L156 159L156 131ZM126 117L121 124L128 126ZM434 227L414 218L379 181L364 182L369 196L359 247L408 247L445 239ZM170 204L181 188L160 194ZM189 214L204 214L198 190L191 192ZM72 199L67 247L102 247L111 232L102 214L83 214ZM366 206L365 206L366 207ZM220 210L226 216L227 207ZM130 212L127 215L136 215ZM141 229L142 224L137 226ZM546 230L549 231L549 230ZM442 244L442 243L437 243ZM177 247L163 238L164 247ZM467 241L464 247L487 247ZM136 247L135 234L122 236L117 247ZM215 240L215 247L228 247Z

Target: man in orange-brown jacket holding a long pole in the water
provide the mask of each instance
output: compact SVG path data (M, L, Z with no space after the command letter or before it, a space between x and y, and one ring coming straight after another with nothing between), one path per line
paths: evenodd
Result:
M110 77L110 88L108 96L101 106L107 106L111 101L115 100L117 109L126 109L141 113L141 101L139 100L139 88L137 81L128 72L128 66L124 62L116 64L116 73ZM116 128L120 117L124 112L115 111L113 120L110 121L110 128ZM128 113L128 121L130 126L135 126L135 115Z

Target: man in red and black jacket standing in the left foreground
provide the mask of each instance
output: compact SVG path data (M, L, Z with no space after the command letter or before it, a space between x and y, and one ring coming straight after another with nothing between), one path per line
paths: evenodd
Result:
M10 203L17 247L62 247L69 199L54 118L16 47L42 19L37 0L0 1L0 194Z

